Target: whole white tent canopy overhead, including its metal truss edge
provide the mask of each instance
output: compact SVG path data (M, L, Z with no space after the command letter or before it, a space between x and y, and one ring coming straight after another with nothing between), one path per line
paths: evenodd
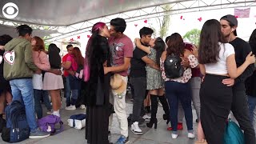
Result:
M255 0L1 0L0 8L8 2L18 6L18 15L9 19L0 12L0 25L14 28L26 23L34 30L47 31L40 35L58 30L61 34L51 41L88 31L95 21L110 22L114 17L133 22L164 14L256 6ZM165 4L171 4L170 10L163 8ZM154 8L149 10L149 7ZM0 27L0 34L3 29L6 27Z

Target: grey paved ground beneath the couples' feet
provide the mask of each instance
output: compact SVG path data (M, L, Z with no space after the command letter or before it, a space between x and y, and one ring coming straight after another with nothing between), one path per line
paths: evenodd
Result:
M72 114L82 114L86 113L86 110L65 110L65 98L62 99L62 110L61 116L62 121L64 122L64 131L61 134L57 134L54 136L50 136L48 138L39 138L39 139L27 139L23 142L19 142L22 144L84 144L87 143L85 139L85 129L76 130L74 128L70 128L67 125L66 120ZM193 106L192 106L193 107ZM44 114L46 115L46 108L43 107ZM130 114L132 112L132 102L130 99L127 99L126 105L126 114ZM186 131L186 122L183 122L183 127L185 130L178 131L178 138L172 139L170 131L166 130L166 121L162 119L163 110L161 106L158 106L158 129L154 130L154 128L150 129L146 127L146 122L141 125L142 131L144 134L136 135L130 132L129 128L129 138L130 143L134 144L194 144L194 139L187 138L187 131ZM196 134L197 123L195 122L196 114L195 110L193 110L194 116L194 133ZM111 130L111 136L109 137L110 142L116 142L119 138L119 128L118 128L118 120L116 115L114 114L114 122L113 128ZM0 144L6 144L6 142L2 141L0 138Z

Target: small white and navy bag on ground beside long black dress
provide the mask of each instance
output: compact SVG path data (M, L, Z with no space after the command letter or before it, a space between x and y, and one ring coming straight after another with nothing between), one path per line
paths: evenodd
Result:
M86 126L86 114L74 114L67 120L70 127L81 130Z

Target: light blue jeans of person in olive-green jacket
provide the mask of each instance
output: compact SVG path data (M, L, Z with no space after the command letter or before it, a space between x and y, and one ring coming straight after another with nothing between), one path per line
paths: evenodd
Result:
M38 128L38 124L34 115L34 91L32 78L10 80L11 93L13 101L18 100L25 105L26 120L30 126L30 130L34 132Z

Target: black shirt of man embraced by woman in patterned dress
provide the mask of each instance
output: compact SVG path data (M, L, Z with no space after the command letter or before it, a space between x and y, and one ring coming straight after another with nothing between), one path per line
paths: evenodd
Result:
M130 60L130 77L146 77L146 62L142 61L146 55L145 51L135 47L133 58Z

